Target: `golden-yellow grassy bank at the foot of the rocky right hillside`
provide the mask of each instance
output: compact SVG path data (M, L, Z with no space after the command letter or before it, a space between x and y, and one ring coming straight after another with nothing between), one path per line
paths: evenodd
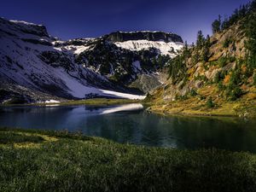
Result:
M256 117L256 90L241 96L236 101L228 101L220 96L218 89L209 85L198 90L196 96L184 96L175 101L164 100L163 91L158 90L155 96L149 96L145 103L150 105L154 113L182 114L189 116L239 116L242 118ZM212 106L207 101L212 97Z

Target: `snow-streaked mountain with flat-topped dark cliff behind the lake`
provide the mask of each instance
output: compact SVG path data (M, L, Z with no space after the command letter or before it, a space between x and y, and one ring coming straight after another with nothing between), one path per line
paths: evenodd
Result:
M183 40L166 32L113 32L61 41L45 26L0 18L0 101L142 99L160 85Z

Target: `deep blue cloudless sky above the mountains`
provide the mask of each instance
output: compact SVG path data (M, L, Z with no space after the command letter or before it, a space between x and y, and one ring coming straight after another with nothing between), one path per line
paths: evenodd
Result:
M1 0L0 16L43 24L62 38L98 37L109 32L176 32L189 43L212 20L230 15L249 0Z

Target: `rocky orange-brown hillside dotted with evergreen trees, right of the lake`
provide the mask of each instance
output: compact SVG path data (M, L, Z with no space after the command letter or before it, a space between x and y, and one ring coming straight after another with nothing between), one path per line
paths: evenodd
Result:
M196 45L186 45L169 62L166 83L148 94L150 110L255 116L255 13L253 2L224 20L212 37L199 32Z

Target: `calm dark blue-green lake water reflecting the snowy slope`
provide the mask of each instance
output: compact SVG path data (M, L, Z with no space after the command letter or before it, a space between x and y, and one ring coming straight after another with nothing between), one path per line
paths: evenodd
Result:
M224 148L256 153L256 121L166 117L141 104L0 108L0 126L82 131L119 143L170 148Z

